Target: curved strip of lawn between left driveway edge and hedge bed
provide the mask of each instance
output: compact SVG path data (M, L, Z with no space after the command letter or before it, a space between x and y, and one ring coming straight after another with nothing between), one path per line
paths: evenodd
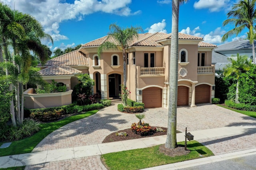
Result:
M66 117L60 121L51 122L51 123L41 123L40 131L34 134L31 137L27 137L20 141L13 141L10 147L0 149L0 156L7 156L7 155L14 155L14 154L23 154L23 153L30 153L36 147L36 145L42 141L47 135L59 129L60 127L78 119L83 119L90 115L93 115L98 110L87 111L84 114L74 115L70 117ZM2 143L0 143L2 145Z

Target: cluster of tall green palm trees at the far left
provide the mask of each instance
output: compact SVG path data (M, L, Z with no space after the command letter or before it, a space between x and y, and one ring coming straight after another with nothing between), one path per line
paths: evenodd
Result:
M18 81L11 84L9 90L12 91L12 85L14 85L16 90L16 115L18 115L18 123L22 124L24 112L22 84L28 81L28 69L32 60L30 51L32 50L44 64L48 55L41 44L41 40L48 39L52 42L53 40L50 35L44 33L42 25L29 14L11 10L9 6L2 3L0 3L0 13L4 16L1 19L0 41L3 44L5 61L8 63L10 59L8 45L11 45L13 48L13 64L18 68ZM9 74L9 70L6 68L6 75ZM12 123L16 126L13 100L10 101L10 112Z

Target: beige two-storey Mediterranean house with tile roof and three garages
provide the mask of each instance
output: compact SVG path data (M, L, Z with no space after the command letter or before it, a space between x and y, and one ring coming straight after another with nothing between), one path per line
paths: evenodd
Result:
M145 108L168 107L171 38L171 33L141 33L126 49L128 98L143 102ZM122 51L103 51L99 57L97 49L104 41L107 36L39 65L40 74L48 82L54 79L66 84L68 90L77 84L78 74L90 74L95 81L93 93L100 92L102 99L119 96L124 75ZM116 43L112 38L108 41ZM202 41L179 33L178 106L194 107L214 98L212 50L217 46Z

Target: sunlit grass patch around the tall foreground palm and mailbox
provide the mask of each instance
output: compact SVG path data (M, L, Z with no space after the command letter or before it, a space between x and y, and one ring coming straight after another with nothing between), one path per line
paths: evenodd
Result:
M184 146L184 142L179 142L178 145ZM191 151L189 154L175 157L159 152L159 146L103 154L101 158L111 170L138 170L214 155L210 149L197 141L188 141L187 149Z

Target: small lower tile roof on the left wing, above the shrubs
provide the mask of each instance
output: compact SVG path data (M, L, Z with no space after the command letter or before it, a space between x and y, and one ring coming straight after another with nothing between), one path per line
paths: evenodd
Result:
M82 73L82 71L72 68L70 66L49 66L39 71L41 76L59 76L59 75L73 75Z

